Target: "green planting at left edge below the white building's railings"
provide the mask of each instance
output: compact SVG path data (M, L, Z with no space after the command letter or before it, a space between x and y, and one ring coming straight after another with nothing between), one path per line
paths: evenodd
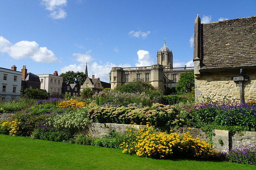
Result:
M21 98L11 102L0 101L0 113L14 113L20 109L34 105L36 100Z

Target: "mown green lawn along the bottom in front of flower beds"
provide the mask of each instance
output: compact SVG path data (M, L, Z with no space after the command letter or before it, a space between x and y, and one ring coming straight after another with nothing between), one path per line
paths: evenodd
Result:
M0 169L250 170L256 166L211 160L152 159L124 154L120 149L0 135Z

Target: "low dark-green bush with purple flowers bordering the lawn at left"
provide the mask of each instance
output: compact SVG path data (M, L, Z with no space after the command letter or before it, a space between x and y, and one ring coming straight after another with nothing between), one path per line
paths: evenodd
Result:
M41 139L46 141L68 141L72 137L70 131L63 129L58 131L57 129L49 126L40 126L34 130L31 137L33 139Z

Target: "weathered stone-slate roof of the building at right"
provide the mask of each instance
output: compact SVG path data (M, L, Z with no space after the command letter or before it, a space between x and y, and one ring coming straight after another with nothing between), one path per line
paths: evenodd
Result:
M256 67L256 16L201 24L201 68Z

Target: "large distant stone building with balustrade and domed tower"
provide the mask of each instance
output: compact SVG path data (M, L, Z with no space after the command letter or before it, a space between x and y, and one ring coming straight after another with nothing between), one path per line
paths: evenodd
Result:
M111 88L118 84L125 84L135 80L150 82L154 87L162 91L175 88L180 74L185 71L194 71L194 67L173 68L172 51L164 46L157 52L157 64L142 67L112 67Z

